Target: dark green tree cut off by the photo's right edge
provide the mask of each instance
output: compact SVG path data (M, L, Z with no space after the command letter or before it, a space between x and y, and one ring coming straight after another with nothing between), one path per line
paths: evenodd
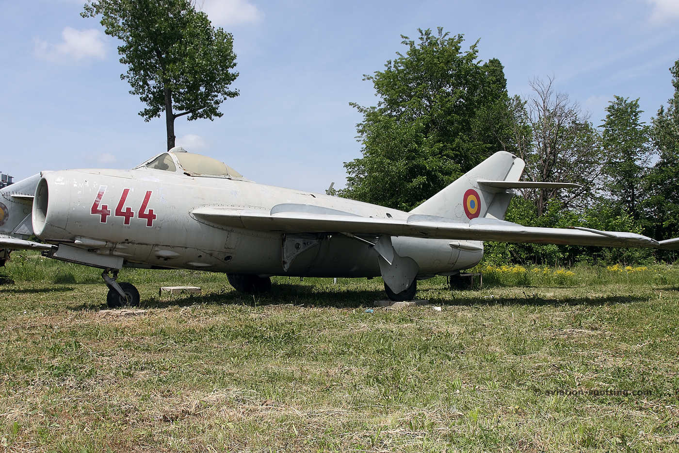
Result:
M655 239L679 236L679 60L669 68L674 96L653 118L651 137L660 158L648 178L648 229Z

